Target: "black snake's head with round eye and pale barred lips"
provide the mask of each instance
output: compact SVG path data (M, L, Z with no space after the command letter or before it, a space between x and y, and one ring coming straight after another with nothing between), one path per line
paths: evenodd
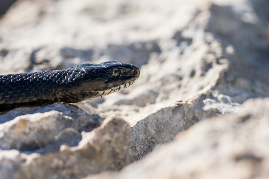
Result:
M82 91L91 93L87 99L98 98L127 88L138 79L140 74L137 66L123 62L86 63L77 67L84 70Z

